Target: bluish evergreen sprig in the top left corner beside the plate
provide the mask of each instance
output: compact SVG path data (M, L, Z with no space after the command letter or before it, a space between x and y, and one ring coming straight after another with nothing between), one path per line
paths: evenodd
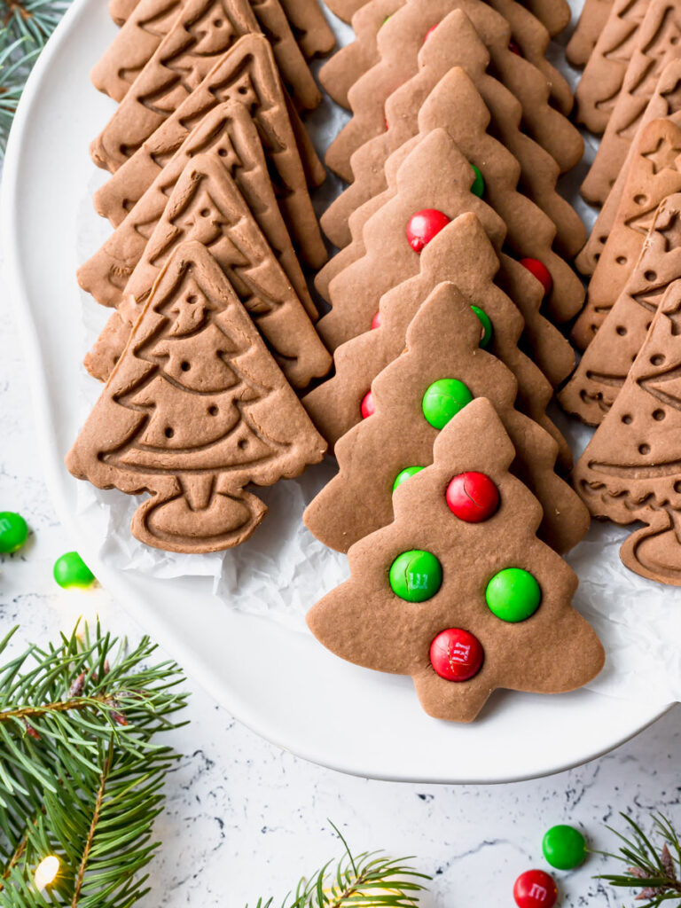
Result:
M0 0L0 157L25 81L70 0Z

